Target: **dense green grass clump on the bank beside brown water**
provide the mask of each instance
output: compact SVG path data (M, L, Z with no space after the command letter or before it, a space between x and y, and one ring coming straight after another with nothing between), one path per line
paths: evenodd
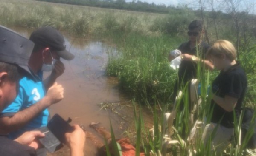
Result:
M148 104L154 99L167 103L172 95L176 71L169 68L169 43L179 40L170 36L148 37L128 34L118 45L119 56L110 56L107 72L119 77L120 86L136 100Z

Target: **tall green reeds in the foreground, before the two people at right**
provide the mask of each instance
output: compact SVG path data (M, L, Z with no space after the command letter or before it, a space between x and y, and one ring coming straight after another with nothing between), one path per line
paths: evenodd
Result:
M201 70L204 69L204 70ZM199 72L200 71L200 72ZM170 142L176 140L178 144L172 144L169 142L169 147L167 147L168 154L172 156L250 156L247 153L246 145L249 141L250 137L254 132L255 123L252 122L247 134L244 137L243 142L241 142L241 138L239 134L241 133L241 124L243 120L244 113L241 113L241 116L237 119L236 113L234 111L234 138L231 140L230 145L225 149L225 151L218 151L215 148L212 148L212 139L217 134L217 127L213 130L213 132L209 135L209 139L204 142L201 138L204 130L204 126L210 123L210 119L212 117L212 109L211 99L212 94L208 91L208 86L211 82L213 75L217 73L210 74L206 71L203 63L198 63L198 75L197 77L201 81L201 99L202 103L198 108L198 112L194 112L196 119L198 121L203 121L204 124L201 127L194 126L195 122L191 122L191 112L189 111L189 91L186 84L185 86L181 86L181 91L183 92L181 98L177 99L175 110L175 124L174 126L174 135L168 140ZM145 155L153 155L153 156L166 156L163 153L166 153L166 149L163 148L166 140L163 136L165 136L166 132L166 122L164 121L164 113L166 112L166 105L160 105L163 111L161 113L157 113L156 109L157 102L154 101L154 108L152 109L152 115L154 117L154 127L153 127L153 135L151 133L147 133L148 128L144 127L143 117L137 115L137 111L134 107L134 116L135 116L135 126L137 130L137 140L136 140L136 156L139 156L140 149L143 149ZM244 104L245 106L245 104ZM180 109L180 107L182 109ZM196 114L197 113L197 114ZM160 115L159 115L160 114ZM207 119L205 119L207 117ZM252 121L256 119L256 111L254 111ZM169 127L170 128L170 127ZM187 139L188 136L192 133L193 128L197 128L198 130L195 133L195 138L192 140ZM142 139L142 136L144 136ZM168 142L168 141L167 141ZM141 148L140 146L143 146ZM171 147L170 147L171 146ZM218 147L219 145L216 145ZM165 152L163 151L165 150ZM150 154L149 154L150 153Z

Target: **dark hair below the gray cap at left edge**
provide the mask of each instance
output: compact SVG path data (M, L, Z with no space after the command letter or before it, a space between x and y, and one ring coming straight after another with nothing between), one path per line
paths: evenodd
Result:
M6 62L0 62L0 72L7 72L10 82L18 82L20 78L23 77L23 69L17 65Z

